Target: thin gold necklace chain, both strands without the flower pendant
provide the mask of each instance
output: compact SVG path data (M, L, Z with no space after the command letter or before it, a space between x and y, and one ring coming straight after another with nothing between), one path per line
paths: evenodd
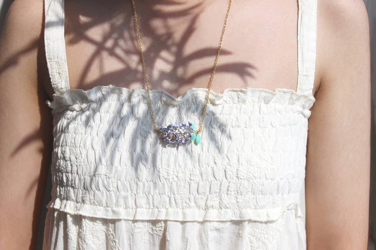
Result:
M226 29L227 19L229 17L229 13L230 13L231 1L232 0L229 0L229 7L227 9L226 18L224 19L223 30L222 30L222 34L221 34L221 40L219 42L217 56L215 57L214 69L213 69L213 72L212 72L211 77L210 77L210 83L209 83L208 93L206 93L205 107L204 107L204 110L203 110L202 119L201 119L201 122L200 122L200 127L199 127L199 129L194 130L193 132L190 132L190 133L200 133L202 131L202 124L204 123L204 119L205 119L206 106L208 106L209 93L210 93L211 86L213 84L213 78L214 78L214 74L215 74L215 69L217 69L217 63L218 63L219 54L221 52L221 46L222 46L222 41L223 41L223 36L224 36L224 30ZM136 15L136 7L135 7L135 1L134 0L132 0L132 5L133 5L133 15L134 15L133 19L134 19L135 25L136 25L138 47L139 47L139 50L140 50L140 53L141 53L141 62L142 62L143 72L144 72L145 81L146 81L147 95L149 97L149 106L150 106L150 111L151 111L152 120L153 120L154 133L156 133L158 129L157 129L157 126L155 125L155 120L154 120L154 112L153 112L153 107L152 107L152 99L150 98L149 83L147 81L147 76L146 76L146 67L145 67L145 61L144 61L144 54L143 54L142 46L141 46L141 37L140 37L139 28L138 28L137 15Z

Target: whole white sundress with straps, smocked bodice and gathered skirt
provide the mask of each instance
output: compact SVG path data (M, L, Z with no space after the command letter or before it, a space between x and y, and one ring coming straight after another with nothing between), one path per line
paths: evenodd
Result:
M211 91L202 142L153 133L147 91L70 89L64 0L45 0L55 91L44 250L305 250L304 180L317 0L299 0L297 90ZM199 125L206 88L151 90L158 127Z

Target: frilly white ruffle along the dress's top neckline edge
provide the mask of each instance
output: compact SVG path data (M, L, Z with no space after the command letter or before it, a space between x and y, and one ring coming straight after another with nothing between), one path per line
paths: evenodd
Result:
M162 105L184 105L186 102L199 98L205 100L208 89L189 88L179 97L174 97L165 90L150 90L153 103ZM57 112L68 107L76 111L85 110L89 103L116 100L118 102L148 103L147 91L143 88L123 88L113 85L95 86L89 90L70 89L63 94L54 94L53 100L46 100L47 105ZM303 115L309 117L309 110L315 102L315 97L286 88L277 88L275 91L264 88L227 88L223 93L210 90L209 105L221 105L224 103L265 103L279 105L293 105L302 109Z

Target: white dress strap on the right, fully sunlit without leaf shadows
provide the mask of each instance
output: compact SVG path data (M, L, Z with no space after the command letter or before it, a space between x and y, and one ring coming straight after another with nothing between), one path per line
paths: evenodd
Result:
M314 93L317 0L298 0L298 84L297 93Z

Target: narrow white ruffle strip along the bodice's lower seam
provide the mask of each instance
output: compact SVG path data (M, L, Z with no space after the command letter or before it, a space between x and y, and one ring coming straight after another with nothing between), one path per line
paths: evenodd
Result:
M47 208L55 208L68 214L78 214L87 217L126 220L177 220L196 222L253 220L257 222L270 222L278 220L279 217L287 210L295 210L295 215L297 218L303 217L303 213L298 202L290 202L284 206L259 210L179 210L173 208L124 209L116 207L98 207L91 204L82 204L55 198L49 202Z

